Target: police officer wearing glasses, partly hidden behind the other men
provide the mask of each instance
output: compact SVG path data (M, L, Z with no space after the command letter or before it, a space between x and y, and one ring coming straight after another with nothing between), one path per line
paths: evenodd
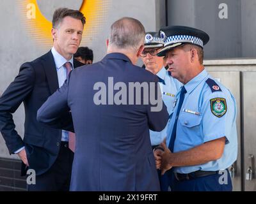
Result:
M175 96L181 84L178 80L170 76L170 73L164 68L163 57L158 57L157 52L161 50L164 46L164 41L161 39L159 33L148 32L145 35L144 50L141 52L141 60L145 65L145 69L157 75L159 78L159 85L162 92L162 97L164 104L167 107L169 115L173 112L173 102ZM163 142L166 137L166 128L161 132L150 130L150 141L152 149L157 147L161 142ZM159 171L160 174L160 171ZM161 190L167 191L168 186L164 182L164 177L160 179Z

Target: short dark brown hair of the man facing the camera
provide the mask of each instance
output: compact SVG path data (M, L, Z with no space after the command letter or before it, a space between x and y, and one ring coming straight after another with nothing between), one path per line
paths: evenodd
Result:
M72 17L76 18L78 20L81 20L82 24L84 25L86 22L86 19L78 10L72 10L68 8L58 8L54 11L53 17L52 17L52 27L56 28L60 23L62 22L63 18L65 17Z

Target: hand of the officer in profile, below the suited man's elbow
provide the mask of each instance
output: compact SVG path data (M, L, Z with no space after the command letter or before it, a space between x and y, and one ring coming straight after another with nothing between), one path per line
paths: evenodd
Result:
M172 161L172 152L168 147L166 147L165 142L161 143L161 147L163 147L164 151L161 151L159 153L159 157L161 157L161 174L164 175L164 173L172 168L170 161Z

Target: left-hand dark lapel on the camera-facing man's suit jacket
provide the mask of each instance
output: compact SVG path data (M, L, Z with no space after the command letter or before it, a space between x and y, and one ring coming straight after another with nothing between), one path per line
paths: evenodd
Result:
M58 75L51 50L43 57L43 67L51 94L59 88Z

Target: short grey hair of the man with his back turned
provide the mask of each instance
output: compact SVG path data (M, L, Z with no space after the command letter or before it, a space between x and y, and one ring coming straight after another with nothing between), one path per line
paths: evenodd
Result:
M135 18L123 17L111 25L109 45L137 49L144 43L145 28Z

